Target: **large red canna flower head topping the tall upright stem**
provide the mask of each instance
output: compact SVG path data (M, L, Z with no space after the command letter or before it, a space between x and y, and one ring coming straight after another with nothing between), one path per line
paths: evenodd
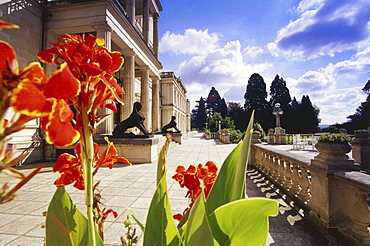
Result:
M53 48L37 54L46 63L67 63L72 74L80 81L81 97L84 105L91 105L92 113L98 108L109 108L116 112L112 103L114 99L123 104L120 97L123 90L112 76L122 66L123 58L119 52L97 47L103 44L103 39L91 34L86 37L66 34L53 44ZM111 102L107 103L109 100Z

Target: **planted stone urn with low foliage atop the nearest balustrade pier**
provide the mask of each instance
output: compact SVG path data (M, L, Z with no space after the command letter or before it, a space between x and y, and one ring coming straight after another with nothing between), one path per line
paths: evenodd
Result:
M342 156L351 151L351 137L345 133L324 133L315 145L320 153Z

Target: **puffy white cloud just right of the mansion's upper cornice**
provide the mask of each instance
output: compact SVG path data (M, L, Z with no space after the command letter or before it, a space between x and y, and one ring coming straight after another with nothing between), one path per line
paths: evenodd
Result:
M160 41L161 53L172 52L176 55L206 54L217 49L219 37L216 33L208 33L208 30L187 29L184 34L175 34L167 31Z

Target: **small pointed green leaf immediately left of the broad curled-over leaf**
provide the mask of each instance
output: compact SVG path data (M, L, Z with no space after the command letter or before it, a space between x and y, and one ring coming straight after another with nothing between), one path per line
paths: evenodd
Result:
M206 209L204 192L202 191L190 209L185 233L185 245L213 245L213 236Z

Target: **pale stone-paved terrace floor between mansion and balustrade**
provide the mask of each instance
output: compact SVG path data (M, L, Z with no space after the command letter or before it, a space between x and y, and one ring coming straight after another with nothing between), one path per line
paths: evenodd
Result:
M160 143L163 143L164 137ZM171 179L173 170L177 165L205 164L208 160L221 165L225 157L235 147L235 144L220 144L217 140L205 140L202 134L194 133L183 141L182 145L171 143L168 156L168 188L173 213L182 212L188 200L184 198L186 191ZM158 145L158 151L162 145ZM292 146L276 146L282 151L291 151ZM296 151L296 153L312 158L316 152ZM39 164L19 167L24 173L31 172ZM0 205L0 245L11 246L41 246L44 244L44 229L41 227L45 217L43 211L47 210L55 187L53 185L58 174L52 173L52 163L46 163L33 179L21 188L17 195L19 199ZM253 172L250 170L248 172ZM101 180L103 203L114 209L119 216L109 216L105 223L105 245L120 245L119 238L126 232L123 221L128 215L125 206L135 211L142 222L145 221L151 197L155 190L156 161L154 163L133 166L115 165L113 169L101 168L95 180ZM266 196L260 188L247 175L248 196ZM9 181L14 185L15 179L0 174L0 185ZM84 212L84 195L73 187L66 188L73 201ZM291 226L288 216L297 213L287 211L276 217L270 217L270 233L266 245L338 245L329 243L327 236L316 230L312 224L302 219ZM242 211L240 211L242 212ZM290 216L290 217L291 217ZM142 245L140 229L138 229Z

